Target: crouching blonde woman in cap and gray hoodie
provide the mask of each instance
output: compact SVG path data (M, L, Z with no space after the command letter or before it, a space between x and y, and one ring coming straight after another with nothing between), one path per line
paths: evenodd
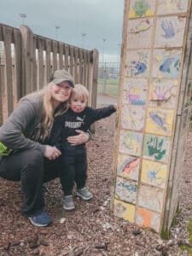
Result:
M36 226L51 224L44 210L43 183L55 177L62 180L63 173L61 152L49 146L49 135L55 116L67 111L73 86L66 70L56 70L44 89L20 100L0 128L0 177L20 181L25 197L22 213ZM89 133L79 131L68 142L78 145L88 139Z

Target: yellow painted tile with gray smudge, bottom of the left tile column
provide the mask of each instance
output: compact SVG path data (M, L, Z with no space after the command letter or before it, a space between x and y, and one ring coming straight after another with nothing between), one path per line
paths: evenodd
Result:
M114 199L114 215L134 222L136 207L123 201Z

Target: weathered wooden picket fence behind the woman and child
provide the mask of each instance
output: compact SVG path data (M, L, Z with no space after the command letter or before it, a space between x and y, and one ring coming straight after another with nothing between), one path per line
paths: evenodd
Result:
M15 108L21 96L47 84L56 69L66 69L75 83L90 91L89 105L96 107L98 51L61 43L0 24L0 125Z

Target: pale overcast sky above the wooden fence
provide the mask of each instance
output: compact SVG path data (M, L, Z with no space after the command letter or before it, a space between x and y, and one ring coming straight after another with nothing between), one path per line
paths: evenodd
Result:
M123 11L124 0L0 0L0 23L19 27L19 14L26 14L33 33L79 47L84 41L84 48L99 50L100 61L103 53L104 61L116 62Z

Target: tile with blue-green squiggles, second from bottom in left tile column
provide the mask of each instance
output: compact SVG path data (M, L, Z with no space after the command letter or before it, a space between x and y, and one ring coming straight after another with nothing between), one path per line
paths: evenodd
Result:
M115 197L135 204L137 199L137 182L117 177Z

